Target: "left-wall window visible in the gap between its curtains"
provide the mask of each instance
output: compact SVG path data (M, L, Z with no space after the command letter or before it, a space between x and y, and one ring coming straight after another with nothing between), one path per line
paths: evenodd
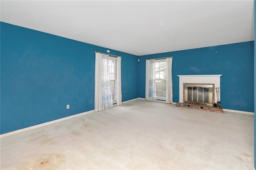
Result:
M115 57L109 57L108 66L109 66L109 74L110 74L112 101L114 104L116 103L116 58Z

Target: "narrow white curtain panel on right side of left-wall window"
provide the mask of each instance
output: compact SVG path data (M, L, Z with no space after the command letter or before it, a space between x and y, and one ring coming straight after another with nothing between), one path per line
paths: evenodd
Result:
M116 59L116 105L122 105L121 57L117 57Z

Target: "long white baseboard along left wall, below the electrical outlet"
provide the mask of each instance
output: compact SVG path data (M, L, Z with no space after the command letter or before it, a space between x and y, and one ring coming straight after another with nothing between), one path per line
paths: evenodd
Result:
M54 120L54 121L50 121L50 122L34 125L34 126L31 126L31 127L27 127L27 128L22 128L22 129L19 129L19 130L14 130L12 132L1 134L0 138L4 138L6 136L11 136L11 135L14 135L14 134L17 134L17 133L21 133L21 132L25 132L25 131L28 131L28 130L32 130L32 129L35 129L35 128L44 127L46 125L51 125L51 124L54 124L54 123L58 123L58 122L65 121L67 119L71 119L71 118L78 117L78 116L81 116L81 115L85 115L85 114L91 113L91 112L94 112L94 110L83 112L83 113L78 113L76 115L64 117L64 118L61 118L61 119L57 119L57 120Z

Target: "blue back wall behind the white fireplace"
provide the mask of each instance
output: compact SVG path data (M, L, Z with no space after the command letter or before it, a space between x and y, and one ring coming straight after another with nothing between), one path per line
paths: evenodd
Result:
M173 101L179 101L177 75L222 74L224 109L254 112L254 41L140 56L139 97L145 97L145 59L173 56Z

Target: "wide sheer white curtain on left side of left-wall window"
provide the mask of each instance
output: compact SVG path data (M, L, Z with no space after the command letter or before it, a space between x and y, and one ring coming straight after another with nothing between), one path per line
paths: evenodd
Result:
M113 107L108 67L108 55L95 53L95 96L94 110L102 111Z

